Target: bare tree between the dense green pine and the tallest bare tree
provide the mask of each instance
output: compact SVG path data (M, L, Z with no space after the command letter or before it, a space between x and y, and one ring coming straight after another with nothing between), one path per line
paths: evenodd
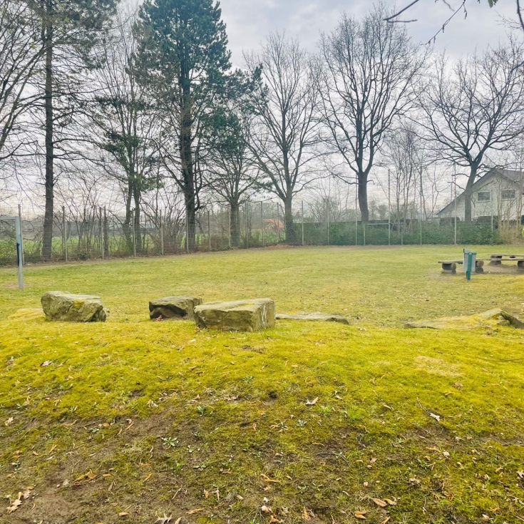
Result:
M245 60L257 78L250 149L264 187L284 204L286 241L294 244L293 197L309 183L319 156L316 67L298 41L284 34L270 34L262 51L246 54Z

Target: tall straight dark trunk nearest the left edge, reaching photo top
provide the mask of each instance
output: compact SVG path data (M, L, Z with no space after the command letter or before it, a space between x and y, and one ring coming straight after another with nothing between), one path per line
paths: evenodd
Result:
M46 46L46 212L43 218L42 258L51 260L54 214L54 138L53 138L53 19L51 0L46 1L43 35Z

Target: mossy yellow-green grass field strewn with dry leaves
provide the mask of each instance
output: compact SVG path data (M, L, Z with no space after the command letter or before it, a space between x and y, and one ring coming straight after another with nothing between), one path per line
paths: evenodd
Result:
M524 521L524 332L402 329L493 307L524 317L524 275L441 274L460 252L41 265L24 292L0 269L0 522ZM101 294L108 322L8 318L58 289ZM150 322L148 300L169 294L271 297L352 324Z

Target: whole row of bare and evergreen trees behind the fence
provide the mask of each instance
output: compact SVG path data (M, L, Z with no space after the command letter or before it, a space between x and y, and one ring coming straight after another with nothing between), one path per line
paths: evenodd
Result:
M315 53L269 34L234 68L213 0L0 0L0 202L42 210L43 260L63 208L99 233L109 210L139 252L148 222L194 250L205 212L239 245L246 203L269 199L291 244L303 200L358 237L430 220L458 187L469 223L488 168L523 170L521 31L452 61L392 15L341 14Z

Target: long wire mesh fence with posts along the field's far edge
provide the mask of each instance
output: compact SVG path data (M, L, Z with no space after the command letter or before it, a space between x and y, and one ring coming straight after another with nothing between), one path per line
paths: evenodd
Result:
M19 210L0 209L0 264L16 263L14 221ZM21 212L24 262L41 262L43 217ZM522 242L522 225L477 220L465 224L453 219L392 220L363 224L355 210L319 210L299 202L293 212L296 245L494 245ZM222 251L289 243L280 202L248 201L237 210L210 203L195 216L195 244L188 242L183 210L135 210L127 213L106 207L68 212L65 207L53 221L52 261L104 260L117 257L151 257L185 252ZM191 246L191 247L190 247Z

